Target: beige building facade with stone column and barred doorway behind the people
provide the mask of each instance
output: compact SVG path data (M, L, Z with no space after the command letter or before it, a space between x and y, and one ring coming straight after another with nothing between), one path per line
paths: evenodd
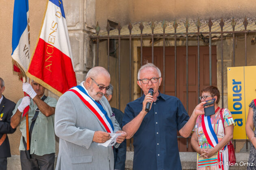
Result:
M111 106L120 108L122 111L124 111L126 104L130 100L138 98L141 94L136 79L137 70L144 60L152 62L153 58L154 63L161 68L162 72L165 68L165 87L162 86L161 91L181 98L182 103L189 112L197 104L197 96L200 89L209 85L210 81L211 84L217 85L221 90L221 93L223 92L223 106L228 107L226 68L230 66L256 65L256 48L255 43L253 42L256 35L254 32L247 32L246 38L244 33L236 33L234 34L234 41L233 34L223 34L223 45L221 45L220 34L217 36L213 35L213 37L210 36L212 48L212 79L208 79L210 76L208 68L210 55L209 35L202 34L201 36L201 34L193 34L186 37L186 34L180 34L176 36L175 40L175 36L172 34L174 31L169 30L170 32L165 37L166 39L163 38L163 31L160 31L161 29L163 30L162 24L164 23L163 20L165 20L167 23L166 29L174 29L173 25L174 21L176 21L176 23L178 23L177 31L185 33L187 19L189 21L188 32L197 32L197 30L192 31L191 28L197 28L196 23L198 18L202 23L201 29L206 29L205 32L209 32L208 23L210 18L213 21L212 29L214 30L216 27L217 31L219 31L220 27L218 24L221 22L221 17L223 17L224 20L224 28L229 25L230 28L227 29L232 31L232 26L230 25L232 17L235 18L237 24L236 28L238 28L237 26L239 24L243 27L245 16L247 16L250 30L253 31L256 30L256 20L254 19L254 16L256 16L256 3L253 0L243 2L239 0L196 0L193 2L184 0L63 0L63 3L77 82L82 82L85 79L87 71L93 66L104 66L110 71L111 83L114 85L115 89ZM10 100L17 102L19 98L22 98L23 93L22 82L18 81L17 76L12 73L11 35L13 4L14 0L0 1L0 6L4 6L3 10L0 11L0 20L1 23L3 23L0 25L2 35L0 40L0 77L2 77L6 83L4 95ZM31 55L37 43L45 6L46 0L29 0ZM100 27L100 30L98 31L99 35L107 35L107 30L111 30L109 45L107 38L98 38L98 40L95 38L97 35L97 30L95 30L97 21ZM159 34L153 34L153 37L150 34L150 32L152 32L150 27L152 26L152 21L155 25L154 34ZM108 22L110 23L110 28L108 27ZM120 41L118 30L115 29L118 23L120 23L119 26L122 27L120 29L120 34L124 36L126 35L124 38L119 36ZM149 32L148 36L143 35L142 43L139 35L137 37L132 37L130 40L129 30L127 30L129 23L131 23L133 27L132 32L139 32L140 34L140 23L143 23L144 26L143 34L148 34ZM243 27L241 29L244 30L245 28ZM249 28L247 30L249 30ZM198 74L197 38L199 35L200 73ZM165 43L163 40L165 40ZM235 43L235 50L233 50L233 43ZM112 51L108 51L108 47ZM165 48L165 64L163 64L163 48ZM223 55L221 55L222 48ZM154 51L154 55L152 55L152 51ZM188 53L186 53L187 51ZM247 64L245 64L245 53ZM174 74L175 55L176 81ZM187 56L189 61L188 75L186 74L187 66L185 64ZM223 60L221 60L221 56L223 56ZM233 58L233 56L235 57ZM223 62L223 76L221 72L221 61ZM200 85L197 83L197 75L200 77ZM188 89L191 93L189 93L189 91L187 93L187 77L189 78ZM46 93L48 93L49 96L54 96L51 92ZM222 101L220 101L220 104L221 103ZM20 136L21 134L19 130L14 134L9 135L12 155L20 154L18 149ZM180 140L183 144L182 146L184 146L183 150L180 148L181 151L186 151L189 148L191 149L190 146L185 147L187 142L186 139ZM58 144L58 142L56 143ZM131 142L128 142L128 144L129 143L130 146L128 146L128 149L130 148L132 150ZM239 149L243 147L244 143L245 141L237 141L236 151L240 151ZM58 147L56 147L56 152L58 152Z

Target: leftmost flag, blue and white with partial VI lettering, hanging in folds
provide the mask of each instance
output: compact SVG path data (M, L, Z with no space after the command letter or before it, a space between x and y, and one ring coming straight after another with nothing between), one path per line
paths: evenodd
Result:
M15 0L13 10L13 72L21 79L30 62L28 0Z

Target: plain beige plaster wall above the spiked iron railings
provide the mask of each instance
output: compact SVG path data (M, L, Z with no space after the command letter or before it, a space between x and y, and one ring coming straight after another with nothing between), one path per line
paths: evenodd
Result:
M96 0L96 21L106 30L107 19L121 23L180 19L251 18L254 0Z

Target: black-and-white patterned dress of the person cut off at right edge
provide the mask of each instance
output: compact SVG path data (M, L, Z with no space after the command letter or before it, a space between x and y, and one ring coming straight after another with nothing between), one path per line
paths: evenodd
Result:
M254 104L254 101L252 100L251 104L249 104L249 107L252 108L253 110L253 124L254 127L256 127L256 106ZM254 130L254 134L256 134L256 129ZM248 160L248 166L247 166L247 170L256 170L256 150L255 147L253 146L253 144L251 144L251 150L250 150L250 154L249 154L249 160ZM251 166L249 166L251 165Z

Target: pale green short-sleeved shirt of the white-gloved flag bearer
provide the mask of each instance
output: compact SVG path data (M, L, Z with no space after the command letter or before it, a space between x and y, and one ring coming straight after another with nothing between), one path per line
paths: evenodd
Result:
M13 115L16 113L18 106L20 105L22 98L17 102ZM47 97L44 102L51 107L56 107L57 100L55 98ZM33 99L30 98L30 105L28 111L29 127L31 125L31 119L35 115L35 109L37 105L34 104ZM20 123L20 132L26 140L26 118L23 117ZM24 151L22 137L20 139L20 151ZM46 117L43 113L39 112L35 125L31 134L30 153L35 155L45 155L55 153L55 133L54 133L54 115Z

